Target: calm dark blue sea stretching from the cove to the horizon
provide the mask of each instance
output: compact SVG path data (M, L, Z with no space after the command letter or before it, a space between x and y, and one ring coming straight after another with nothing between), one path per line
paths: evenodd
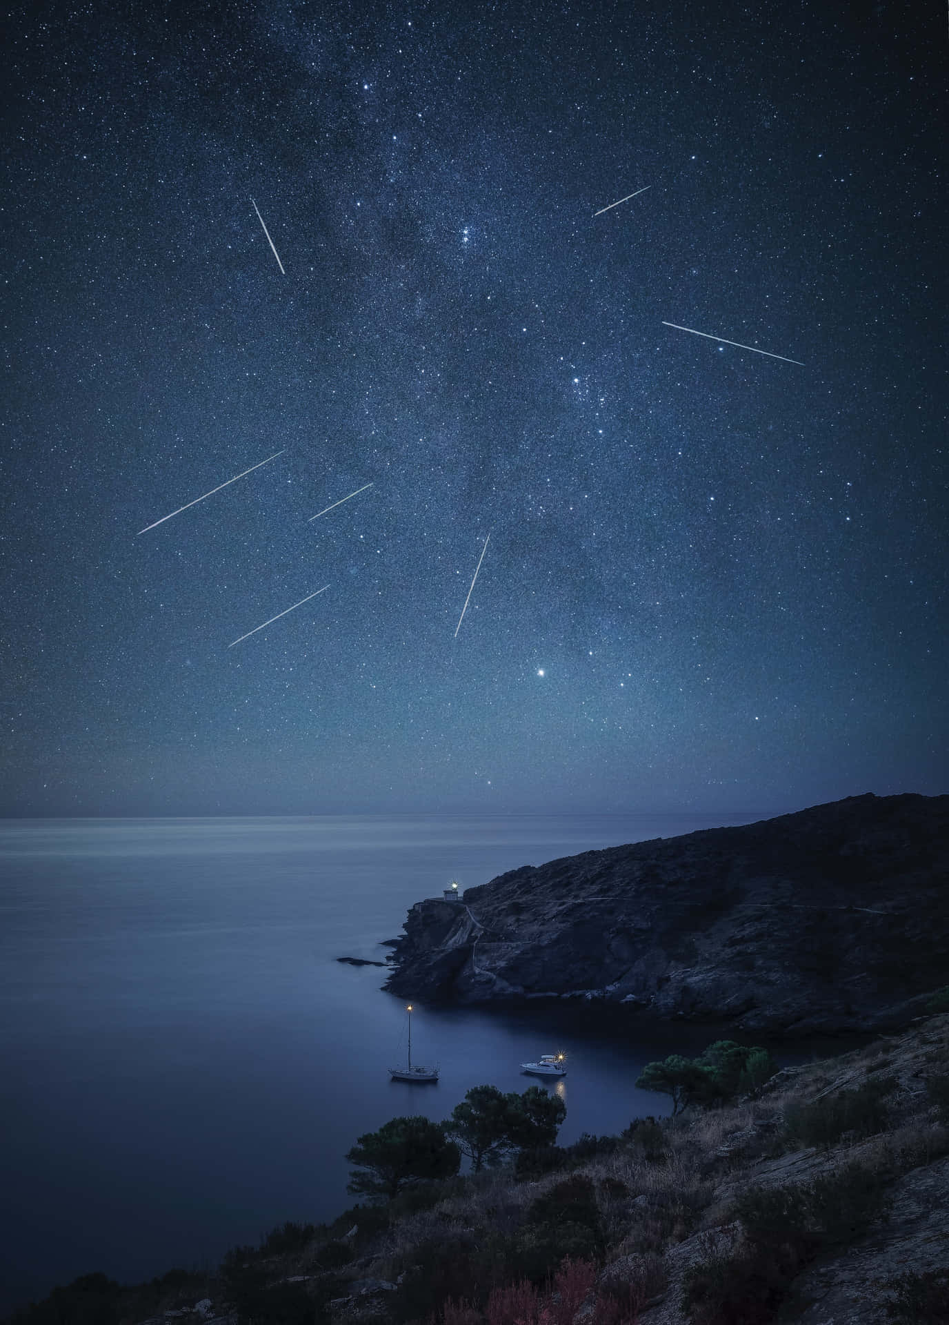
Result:
M688 816L7 820L0 823L0 1314L101 1269L213 1267L286 1219L353 1198L345 1151L473 1085L523 1090L565 1049L560 1140L667 1112L634 1081L698 1052L695 1027L630 1034L602 1010L428 1008L405 1055L384 961L449 878L728 819Z

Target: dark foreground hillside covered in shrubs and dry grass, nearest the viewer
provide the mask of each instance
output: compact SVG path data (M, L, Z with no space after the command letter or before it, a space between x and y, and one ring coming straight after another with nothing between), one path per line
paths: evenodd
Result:
M728 1051L701 1059L713 1067ZM621 1137L533 1145L508 1128L495 1158L510 1162L441 1181L417 1173L331 1224L285 1224L230 1252L212 1280L131 1289L86 1276L13 1321L164 1325L172 1310L184 1325L568 1325L580 1312L585 1325L764 1325L794 1320L811 1271L829 1265L836 1281L838 1259L874 1236L859 1318L937 1325L949 1316L945 1267L905 1222L909 1268L888 1261L885 1220L891 1208L903 1218L907 1183L932 1174L944 1190L948 1125L940 1015L784 1069L737 1102L713 1094L675 1118L635 1120ZM443 1141L454 1143L447 1128Z

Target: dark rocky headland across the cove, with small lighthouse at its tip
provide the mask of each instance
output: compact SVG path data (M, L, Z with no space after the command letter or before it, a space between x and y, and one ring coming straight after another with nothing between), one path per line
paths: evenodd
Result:
M813 1035L907 1024L945 983L949 796L851 796L527 865L416 904L385 987L584 996Z

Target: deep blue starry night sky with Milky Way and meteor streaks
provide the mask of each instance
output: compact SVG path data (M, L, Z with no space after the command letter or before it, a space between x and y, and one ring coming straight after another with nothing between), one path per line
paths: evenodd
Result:
M0 814L949 790L945 7L7 33Z

